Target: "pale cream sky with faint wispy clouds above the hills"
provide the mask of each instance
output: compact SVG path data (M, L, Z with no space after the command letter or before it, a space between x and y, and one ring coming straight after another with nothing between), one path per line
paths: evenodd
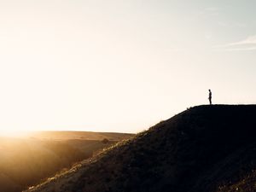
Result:
M256 103L254 0L0 0L0 132L138 132Z

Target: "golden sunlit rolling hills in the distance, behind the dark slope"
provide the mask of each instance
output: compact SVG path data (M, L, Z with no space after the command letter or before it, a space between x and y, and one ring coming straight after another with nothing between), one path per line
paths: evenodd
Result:
M19 192L88 159L132 134L82 131L34 132L0 137L0 192ZM102 142L103 138L107 141Z

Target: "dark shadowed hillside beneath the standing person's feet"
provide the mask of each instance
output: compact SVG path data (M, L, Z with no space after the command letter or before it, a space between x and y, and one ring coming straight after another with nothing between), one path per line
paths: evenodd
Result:
M256 106L199 106L29 191L216 192L256 167Z

